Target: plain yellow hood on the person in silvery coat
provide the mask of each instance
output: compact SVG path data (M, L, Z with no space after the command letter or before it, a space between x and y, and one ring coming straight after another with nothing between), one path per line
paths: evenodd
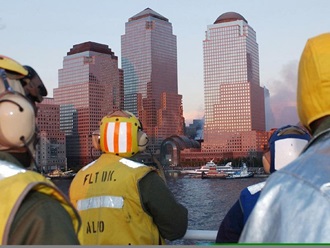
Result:
M310 124L330 115L330 33L309 39L299 62L297 110L300 122Z

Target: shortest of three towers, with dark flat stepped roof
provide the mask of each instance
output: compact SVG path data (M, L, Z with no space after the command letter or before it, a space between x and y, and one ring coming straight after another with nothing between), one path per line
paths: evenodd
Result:
M104 115L123 108L122 78L118 58L107 45L77 44L64 57L54 98L60 104L68 166L83 166L93 159L92 132Z

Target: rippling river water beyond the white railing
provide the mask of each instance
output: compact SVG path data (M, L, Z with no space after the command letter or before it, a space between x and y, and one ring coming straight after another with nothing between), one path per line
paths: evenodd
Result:
M188 209L189 230L218 230L227 211L239 197L240 191L265 178L199 179L167 177L167 185L176 199ZM53 180L65 193L71 180ZM196 240L175 240L170 245L201 244Z

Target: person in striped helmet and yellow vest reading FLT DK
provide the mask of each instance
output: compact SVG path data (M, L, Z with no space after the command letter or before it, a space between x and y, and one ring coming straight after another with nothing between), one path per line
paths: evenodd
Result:
M188 211L155 168L132 158L148 137L130 112L106 115L94 146L102 155L72 180L69 197L82 219L83 245L159 245L184 236Z

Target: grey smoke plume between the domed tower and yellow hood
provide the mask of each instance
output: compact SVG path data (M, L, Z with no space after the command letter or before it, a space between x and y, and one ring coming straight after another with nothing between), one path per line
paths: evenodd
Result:
M298 62L289 62L283 66L279 79L266 85L270 93L270 128L299 122L296 108L297 72Z

